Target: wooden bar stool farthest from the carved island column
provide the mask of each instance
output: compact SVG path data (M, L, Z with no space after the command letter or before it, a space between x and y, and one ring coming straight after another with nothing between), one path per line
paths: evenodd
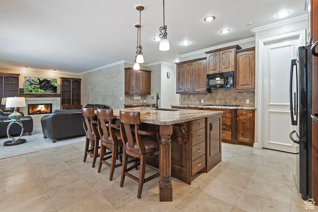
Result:
M100 155L98 154L99 147L99 140L100 135L97 129L97 121L94 120L95 112L94 108L82 108L83 114L83 125L86 132L86 143L85 143L85 153L84 153L84 160L86 161L87 154L93 157L93 164L92 168L95 167L96 159ZM89 149L90 140L94 141L94 148ZM92 153L93 152L93 153Z

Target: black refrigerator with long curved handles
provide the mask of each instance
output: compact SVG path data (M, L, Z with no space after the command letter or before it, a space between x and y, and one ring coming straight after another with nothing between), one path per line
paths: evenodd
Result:
M292 125L297 126L289 134L299 145L295 156L296 182L304 200L311 198L311 147L312 147L312 58L311 45L298 48L297 59L290 68L290 114ZM298 130L299 128L299 130ZM295 137L293 134L295 133Z

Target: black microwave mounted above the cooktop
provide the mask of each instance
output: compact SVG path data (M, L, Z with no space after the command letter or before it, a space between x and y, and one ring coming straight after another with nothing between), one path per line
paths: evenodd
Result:
M207 88L231 88L234 87L234 72L222 72L206 75Z

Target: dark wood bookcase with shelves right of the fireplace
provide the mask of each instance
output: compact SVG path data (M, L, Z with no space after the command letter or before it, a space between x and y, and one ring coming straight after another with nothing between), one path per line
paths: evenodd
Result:
M59 77L62 110L81 109L81 79Z

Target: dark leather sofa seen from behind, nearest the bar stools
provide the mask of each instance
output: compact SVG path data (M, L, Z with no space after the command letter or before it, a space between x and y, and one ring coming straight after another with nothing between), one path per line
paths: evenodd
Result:
M41 118L44 138L67 138L77 135L85 135L83 116L80 110L54 110L52 114Z

